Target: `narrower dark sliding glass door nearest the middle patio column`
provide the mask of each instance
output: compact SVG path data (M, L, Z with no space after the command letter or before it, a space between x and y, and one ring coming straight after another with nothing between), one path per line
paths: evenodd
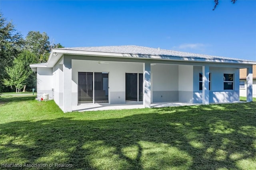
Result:
M143 74L126 73L125 76L126 102L143 101Z

